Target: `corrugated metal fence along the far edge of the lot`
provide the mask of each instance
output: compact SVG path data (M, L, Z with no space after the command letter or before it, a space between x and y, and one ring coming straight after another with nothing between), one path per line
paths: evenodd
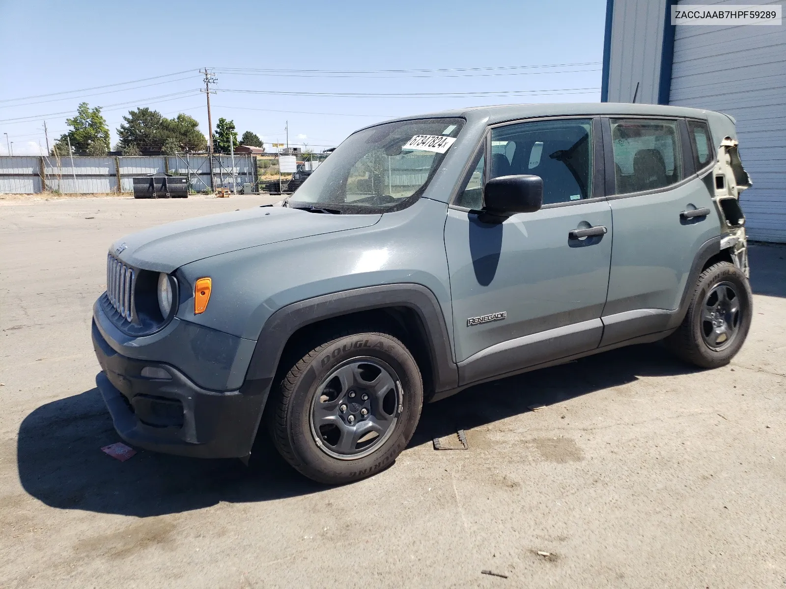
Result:
M208 155L3 155L0 156L0 193L35 194L47 190L64 193L133 192L134 176L173 174L189 178L196 192L211 189ZM254 155L214 155L214 187L258 188Z

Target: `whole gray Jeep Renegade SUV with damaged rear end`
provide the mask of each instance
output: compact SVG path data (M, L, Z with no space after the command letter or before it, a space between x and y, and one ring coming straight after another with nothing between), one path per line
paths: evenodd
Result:
M665 339L702 368L751 323L734 121L645 104L398 119L282 207L112 244L97 386L123 440L317 481L391 465L424 401Z

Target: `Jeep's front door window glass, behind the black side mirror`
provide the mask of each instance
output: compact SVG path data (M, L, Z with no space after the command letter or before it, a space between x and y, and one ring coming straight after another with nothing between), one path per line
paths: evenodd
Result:
M592 120L516 123L491 130L490 177L534 174L543 204L592 196Z

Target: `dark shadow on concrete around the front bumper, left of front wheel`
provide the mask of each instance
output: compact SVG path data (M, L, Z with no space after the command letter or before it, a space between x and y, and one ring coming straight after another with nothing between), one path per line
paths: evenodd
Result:
M140 518L323 490L268 444L255 459L204 460L138 450L126 462L101 452L120 441L97 389L53 401L22 422L17 467L24 490L50 507Z

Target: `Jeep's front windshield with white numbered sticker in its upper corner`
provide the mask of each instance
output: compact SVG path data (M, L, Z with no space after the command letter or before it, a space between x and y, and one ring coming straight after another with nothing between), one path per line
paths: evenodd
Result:
M423 194L464 119L419 119L352 134L292 195L288 206L336 213L384 213Z

